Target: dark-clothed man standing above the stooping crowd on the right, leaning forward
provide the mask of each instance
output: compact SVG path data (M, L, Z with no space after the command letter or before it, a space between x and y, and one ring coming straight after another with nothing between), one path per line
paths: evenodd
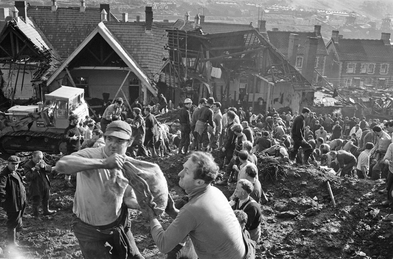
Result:
M294 120L294 124L292 126L292 139L294 140L294 148L292 152L290 152L290 159L292 161L296 160L296 156L298 155L299 147L303 148L303 164L310 165L309 158L314 162L314 155L312 154L312 147L307 140L304 139L304 119L309 116L310 109L303 108L301 110L301 115L296 117Z

